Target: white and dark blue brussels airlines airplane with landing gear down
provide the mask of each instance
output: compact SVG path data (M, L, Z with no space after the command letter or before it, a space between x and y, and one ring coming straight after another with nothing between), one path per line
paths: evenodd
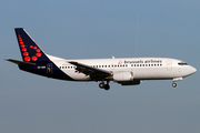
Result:
M138 85L143 80L176 81L196 73L197 69L170 58L114 58L69 60L43 52L23 28L16 28L16 35L23 61L4 59L19 69L47 78L67 81L100 81L99 88L109 90L109 82ZM107 83L106 83L107 82Z

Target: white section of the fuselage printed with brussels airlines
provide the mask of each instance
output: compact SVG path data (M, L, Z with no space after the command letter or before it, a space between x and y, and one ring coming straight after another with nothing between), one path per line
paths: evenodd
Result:
M134 80L167 80L180 79L194 73L197 70L182 61L169 58L120 58L120 59L89 59L64 60L49 57L58 68L77 81L90 81L90 76L76 71L76 66L68 63L76 61L101 70L117 72L132 72ZM113 80L112 78L110 80Z

